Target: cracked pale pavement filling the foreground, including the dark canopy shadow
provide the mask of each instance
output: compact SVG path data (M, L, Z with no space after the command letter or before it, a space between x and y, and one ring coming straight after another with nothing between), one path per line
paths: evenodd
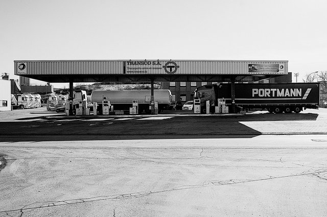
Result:
M326 123L2 112L0 216L325 216Z

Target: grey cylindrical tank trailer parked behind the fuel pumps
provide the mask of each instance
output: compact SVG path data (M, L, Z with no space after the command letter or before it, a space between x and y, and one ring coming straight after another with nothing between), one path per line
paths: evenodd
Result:
M158 102L158 111L165 110L172 101L170 90L154 90L154 101ZM97 102L98 112L102 111L102 101L109 100L115 110L129 111L133 100L138 100L138 114L151 113L151 90L95 90L91 94L91 102Z

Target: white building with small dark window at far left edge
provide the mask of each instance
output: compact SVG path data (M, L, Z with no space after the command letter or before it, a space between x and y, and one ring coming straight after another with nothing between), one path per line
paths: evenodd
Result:
M0 111L11 111L10 80L7 75L0 78Z

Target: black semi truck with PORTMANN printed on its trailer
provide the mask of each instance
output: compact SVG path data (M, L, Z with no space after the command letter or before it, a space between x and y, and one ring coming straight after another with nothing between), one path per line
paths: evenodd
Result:
M258 83L235 84L235 100L231 100L231 84L217 83L204 85L194 91L195 99L200 99L201 113L210 112L223 102L231 113L243 110L268 110L270 113L299 113L303 108L318 108L320 99L319 83Z

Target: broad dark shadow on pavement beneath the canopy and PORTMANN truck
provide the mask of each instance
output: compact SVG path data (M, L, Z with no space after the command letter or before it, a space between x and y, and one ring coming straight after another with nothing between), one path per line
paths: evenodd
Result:
M176 116L164 120L24 119L21 122L0 122L0 142L253 138L262 133L240 122L314 121L317 117L317 114L311 113L265 113L234 117Z

